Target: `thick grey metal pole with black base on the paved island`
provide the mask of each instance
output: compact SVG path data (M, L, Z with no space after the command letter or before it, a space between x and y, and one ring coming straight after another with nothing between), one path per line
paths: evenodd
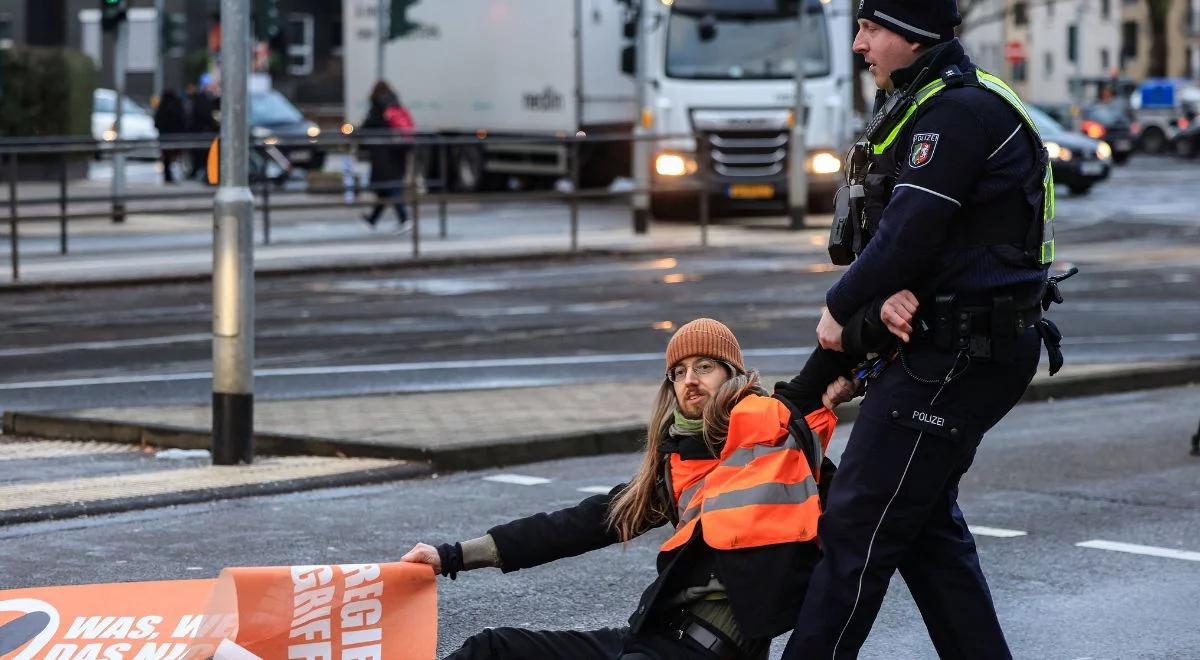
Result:
M248 187L250 11L221 0L221 184L212 204L212 463L254 460L254 198Z

